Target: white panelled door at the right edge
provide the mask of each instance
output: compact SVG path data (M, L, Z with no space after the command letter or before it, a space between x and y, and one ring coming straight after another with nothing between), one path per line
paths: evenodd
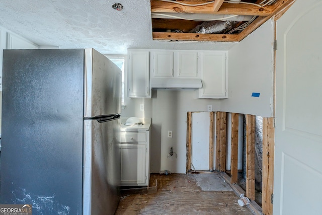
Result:
M277 21L273 214L322 214L322 1Z

